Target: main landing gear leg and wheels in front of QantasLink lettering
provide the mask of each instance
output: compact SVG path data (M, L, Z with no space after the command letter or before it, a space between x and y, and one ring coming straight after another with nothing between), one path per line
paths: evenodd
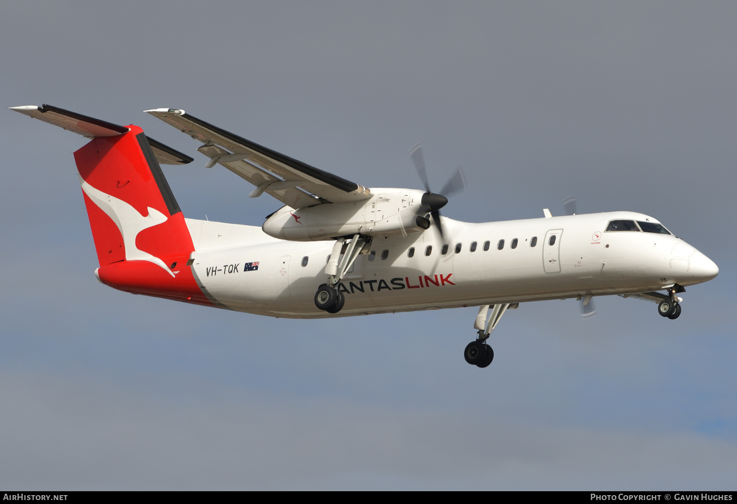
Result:
M361 253L368 253L371 237L355 234L349 242L338 238L332 246L330 259L325 266L327 283L318 287L315 293L315 306L328 313L338 313L346 304L346 298L338 290L338 284Z

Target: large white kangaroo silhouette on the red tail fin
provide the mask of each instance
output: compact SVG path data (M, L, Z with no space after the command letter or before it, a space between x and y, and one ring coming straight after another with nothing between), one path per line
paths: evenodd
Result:
M160 266L164 271L169 273L171 276L175 276L174 273L164 264L164 261L156 256L152 256L148 252L139 250L136 247L136 237L144 229L153 228L153 226L167 222L166 215L162 214L156 209L148 207L148 215L144 217L139 214L139 211L130 206L129 203L120 200L114 196L105 194L105 192L95 189L87 181L80 176L80 183L82 183L82 190L85 192L94 204L99 207L100 210L108 214L113 220L113 223L118 226L120 234L123 237L123 245L125 246L125 260L126 261L148 261L153 264Z

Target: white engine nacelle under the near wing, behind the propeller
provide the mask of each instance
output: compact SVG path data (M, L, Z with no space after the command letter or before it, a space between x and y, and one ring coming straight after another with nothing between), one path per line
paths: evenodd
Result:
M262 225L274 238L295 241L335 239L352 234L390 236L417 233L429 227L417 219L424 191L416 189L374 189L371 198L353 203L323 203L292 209L282 206Z

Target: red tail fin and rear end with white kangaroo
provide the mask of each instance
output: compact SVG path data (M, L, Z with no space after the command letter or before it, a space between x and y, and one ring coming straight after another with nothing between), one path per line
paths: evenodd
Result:
M99 279L133 293L210 304L186 264L195 250L184 216L137 126L74 153Z

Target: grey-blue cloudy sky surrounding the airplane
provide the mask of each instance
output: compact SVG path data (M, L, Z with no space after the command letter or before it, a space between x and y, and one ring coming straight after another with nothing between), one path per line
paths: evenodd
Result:
M0 113L0 486L59 489L733 486L733 2L4 2L4 106L134 123L195 157L165 167L187 217L260 225L184 108L366 186L419 188L469 221L627 209L719 265L683 315L597 299L522 304L495 362L475 309L285 321L98 284L71 153ZM199 157L198 157L199 156Z

